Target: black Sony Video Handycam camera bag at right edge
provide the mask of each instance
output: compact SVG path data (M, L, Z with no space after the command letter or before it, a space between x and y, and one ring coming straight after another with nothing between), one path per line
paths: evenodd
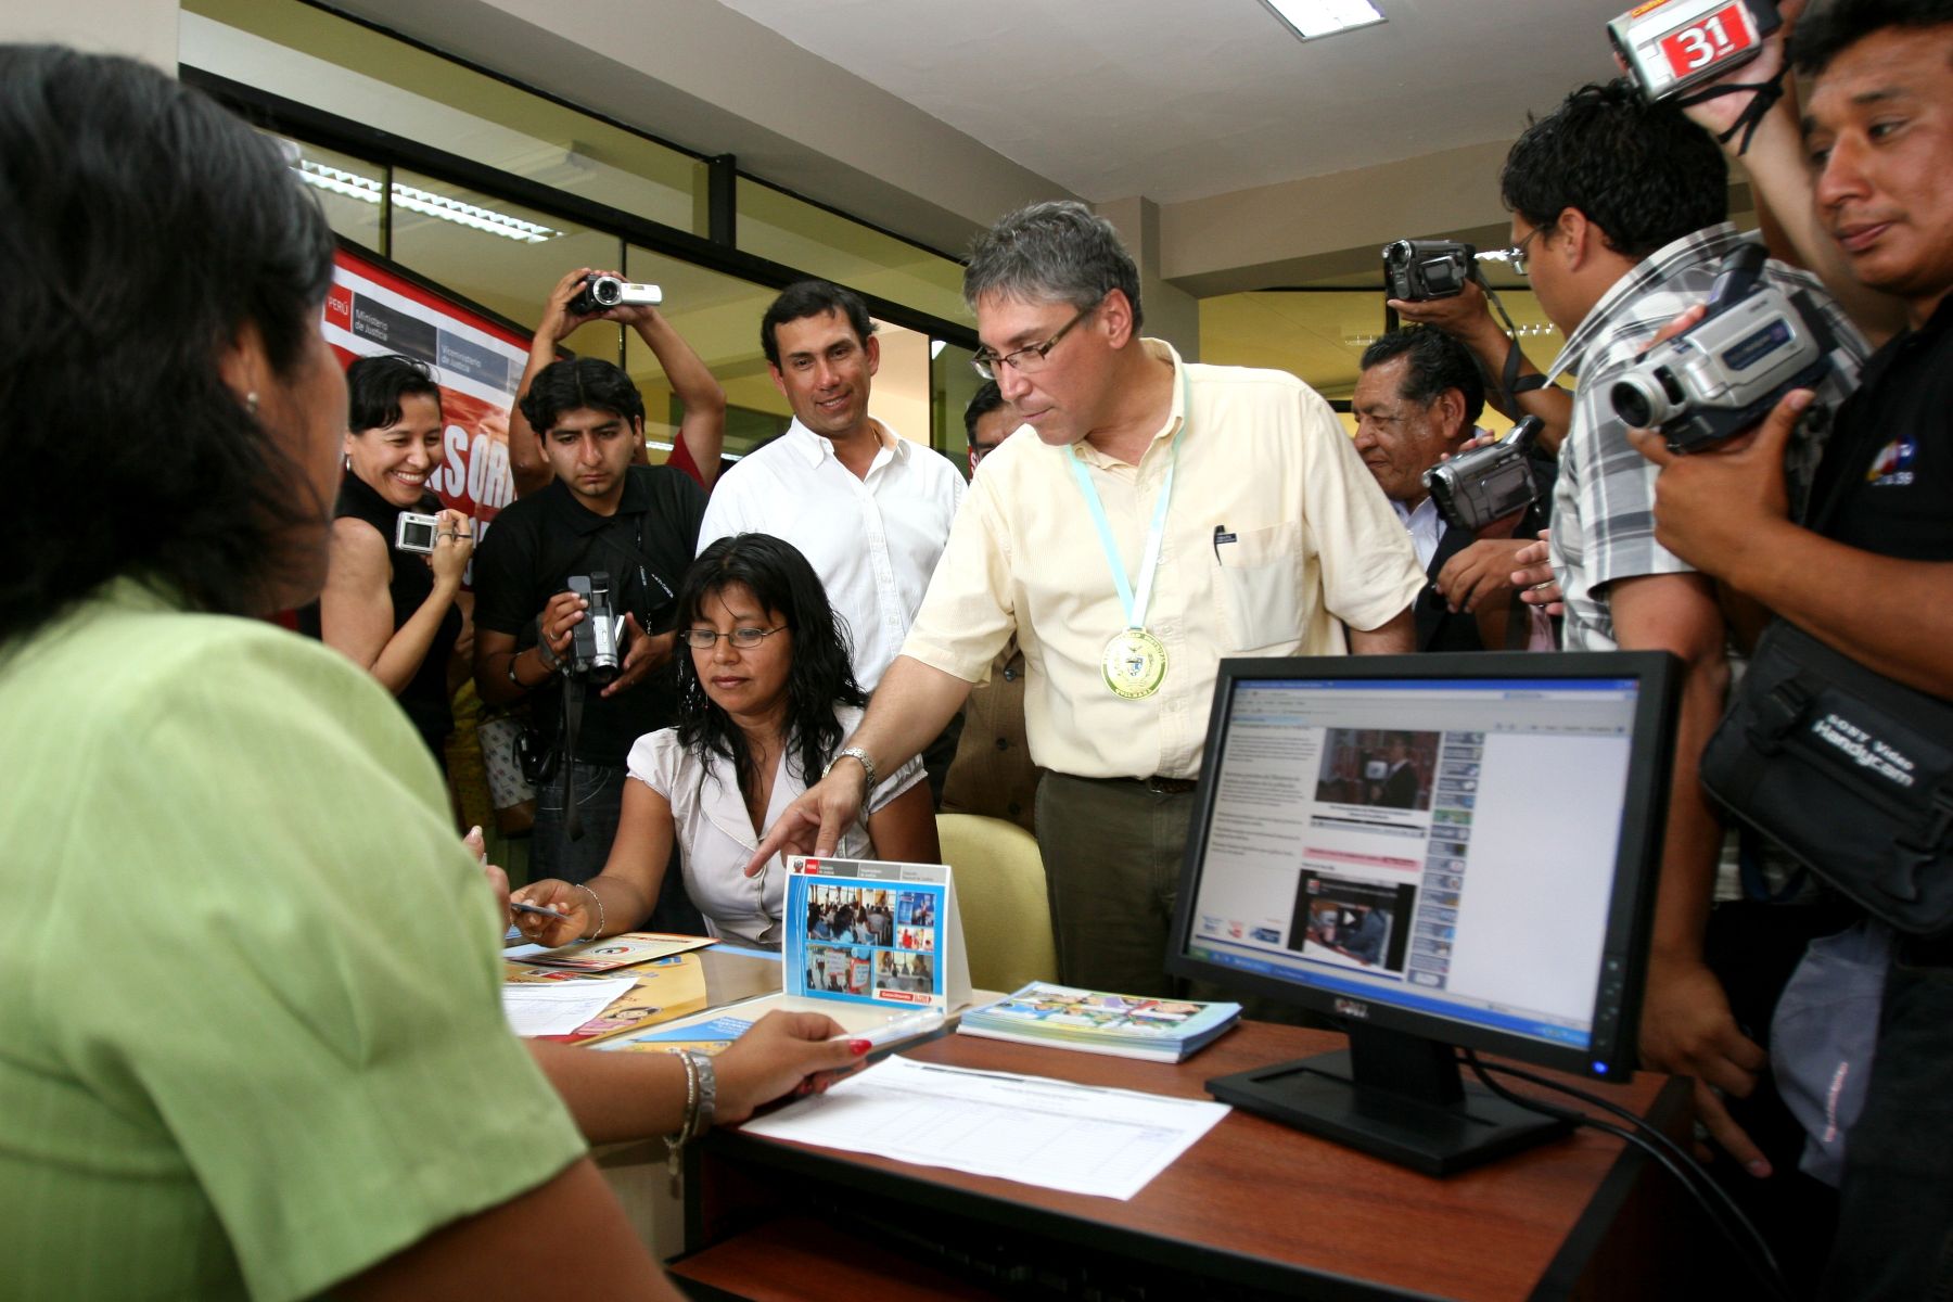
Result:
M1779 619L1709 738L1701 781L1873 917L1953 933L1953 703Z

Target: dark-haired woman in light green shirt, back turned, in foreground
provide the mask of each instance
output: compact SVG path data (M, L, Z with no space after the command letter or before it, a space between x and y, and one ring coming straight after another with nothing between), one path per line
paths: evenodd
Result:
M250 619L324 574L330 271L275 141L0 45L0 451L35 486L0 511L4 1292L674 1296L584 1146L689 1128L703 1085L510 1035L426 748ZM846 1068L836 1031L754 1027L719 1117Z

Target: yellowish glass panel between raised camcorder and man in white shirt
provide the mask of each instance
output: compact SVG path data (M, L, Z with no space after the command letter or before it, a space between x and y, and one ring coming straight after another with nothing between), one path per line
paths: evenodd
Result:
M773 301L773 291L635 244L625 250L625 273L633 281L652 281L664 291L658 310L727 390L725 455L744 457L760 443L785 433L793 412L773 388L766 353L760 351L760 316ZM650 443L650 459L664 461L678 437L684 404L678 402L664 367L637 330L625 330L625 369L644 394L644 437Z

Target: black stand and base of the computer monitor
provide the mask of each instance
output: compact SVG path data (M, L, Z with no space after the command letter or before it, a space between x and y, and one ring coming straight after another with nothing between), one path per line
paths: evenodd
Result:
M1457 1050L1353 1025L1350 1048L1207 1081L1223 1103L1424 1171L1451 1175L1568 1130L1459 1076Z

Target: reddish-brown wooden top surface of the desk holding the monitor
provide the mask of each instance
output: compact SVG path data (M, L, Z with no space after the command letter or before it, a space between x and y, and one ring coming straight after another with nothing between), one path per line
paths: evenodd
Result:
M957 1035L904 1052L924 1062L1205 1097L1203 1081L1213 1076L1326 1052L1342 1042L1322 1031L1250 1023L1185 1064ZM1687 1111L1683 1085L1664 1078L1596 1089L1670 1132ZM914 1206L918 1222L934 1214L1035 1232L1275 1292L1312 1281L1332 1296L1588 1292L1598 1271L1646 1255L1625 1249L1619 1230L1623 1222L1648 1220L1637 1206L1650 1197L1641 1187L1646 1163L1639 1152L1623 1154L1619 1140L1590 1130L1434 1179L1236 1109L1127 1202L730 1132L713 1136L707 1146L693 1247L752 1224L752 1208L725 1206L727 1197L736 1197L728 1195L734 1185L752 1185L736 1167L887 1195ZM725 1189L715 1187L715 1173ZM791 1197L797 1181L758 1183L775 1183ZM725 1279L713 1282L732 1286Z

